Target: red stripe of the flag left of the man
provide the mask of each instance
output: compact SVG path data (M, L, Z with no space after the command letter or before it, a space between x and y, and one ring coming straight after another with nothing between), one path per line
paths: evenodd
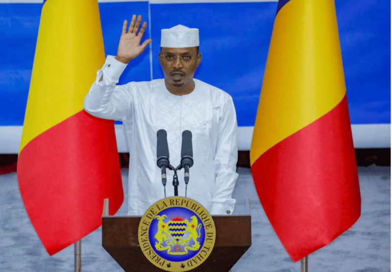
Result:
M43 132L18 158L18 181L27 214L50 255L101 224L123 203L113 121L78 112Z

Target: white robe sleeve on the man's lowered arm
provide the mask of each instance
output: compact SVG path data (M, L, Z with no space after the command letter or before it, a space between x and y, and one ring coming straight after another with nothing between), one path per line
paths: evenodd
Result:
M215 186L211 214L232 214L235 199L231 198L238 177L237 117L231 97L226 101L219 124L219 138L214 158Z

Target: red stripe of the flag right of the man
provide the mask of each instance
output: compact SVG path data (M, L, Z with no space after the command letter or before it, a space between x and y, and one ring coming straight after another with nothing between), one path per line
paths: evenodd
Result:
M331 243L361 214L347 98L251 167L261 204L294 262Z

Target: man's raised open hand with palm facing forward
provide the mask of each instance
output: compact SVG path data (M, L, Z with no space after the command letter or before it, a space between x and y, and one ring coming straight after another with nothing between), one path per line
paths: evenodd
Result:
M117 49L116 56L116 59L123 63L128 63L131 59L134 59L140 55L147 45L152 41L151 39L148 39L144 41L143 44L140 44L144 31L146 30L147 22L143 23L138 33L142 16L139 15L137 21L135 21L136 15L134 14L132 16L132 21L129 25L128 32L126 31L127 21L125 20L123 24L123 33L121 34L119 48Z

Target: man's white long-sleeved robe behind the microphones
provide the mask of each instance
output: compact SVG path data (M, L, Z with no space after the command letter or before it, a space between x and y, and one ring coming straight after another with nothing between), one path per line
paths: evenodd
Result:
M195 90L170 93L164 79L116 85L126 64L108 56L84 100L84 109L99 118L122 121L129 147L128 215L143 215L164 198L161 170L156 165L156 133L165 129L169 159L180 164L182 132L192 132L194 164L189 169L187 197L211 214L231 214L238 174L237 118L233 100L224 91L194 79ZM103 75L103 80L98 81ZM166 196L174 196L174 172L167 169ZM178 196L185 196L184 170L177 171Z

